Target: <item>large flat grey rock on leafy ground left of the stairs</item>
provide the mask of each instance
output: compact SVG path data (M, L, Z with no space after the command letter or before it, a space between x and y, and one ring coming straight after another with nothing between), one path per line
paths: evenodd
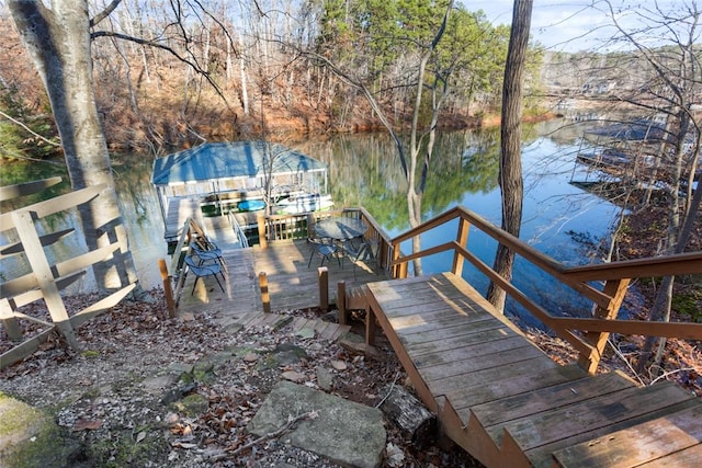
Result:
M298 422L281 438L342 466L376 468L381 465L386 438L383 413L304 385L278 384L247 429L262 436L283 427L288 416L310 411L316 411L317 418Z

